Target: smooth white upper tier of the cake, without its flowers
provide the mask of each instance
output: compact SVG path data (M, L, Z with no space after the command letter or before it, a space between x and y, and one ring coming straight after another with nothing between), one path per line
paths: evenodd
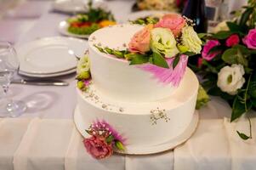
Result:
M137 25L111 26L95 31L89 37L88 50L94 86L109 98L131 103L148 102L168 98L174 92L172 84L158 82L150 72L129 65L125 59L103 54L94 47L96 44L125 49L131 37L142 28Z

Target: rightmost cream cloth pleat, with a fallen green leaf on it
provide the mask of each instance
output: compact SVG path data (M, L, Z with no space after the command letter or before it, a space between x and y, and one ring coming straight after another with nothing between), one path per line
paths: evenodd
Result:
M256 169L256 118L251 119L253 139L241 139L236 130L249 136L249 124L247 118L242 116L236 122L230 123L225 118L225 132L230 143L232 157L232 170L255 170Z

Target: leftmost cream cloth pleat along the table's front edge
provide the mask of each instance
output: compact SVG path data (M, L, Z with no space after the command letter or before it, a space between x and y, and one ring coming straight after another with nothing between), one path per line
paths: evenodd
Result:
M13 169L13 156L31 119L0 120L0 169Z

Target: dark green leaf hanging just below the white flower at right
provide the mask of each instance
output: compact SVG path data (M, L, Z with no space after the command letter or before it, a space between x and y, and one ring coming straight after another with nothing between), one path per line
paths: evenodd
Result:
M236 96L236 99L233 102L232 106L232 115L231 115L231 122L235 121L237 118L242 116L243 113L246 112L245 105L238 99Z

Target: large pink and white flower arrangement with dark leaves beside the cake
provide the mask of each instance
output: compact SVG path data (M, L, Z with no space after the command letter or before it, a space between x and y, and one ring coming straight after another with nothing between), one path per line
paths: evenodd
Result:
M225 99L233 122L256 111L256 2L249 1L239 18L226 22L225 31L201 34L202 57L191 68L202 77L208 94ZM223 23L221 23L223 25ZM248 119L249 120L249 119ZM251 130L251 122L250 130ZM237 131L242 139L251 139Z

